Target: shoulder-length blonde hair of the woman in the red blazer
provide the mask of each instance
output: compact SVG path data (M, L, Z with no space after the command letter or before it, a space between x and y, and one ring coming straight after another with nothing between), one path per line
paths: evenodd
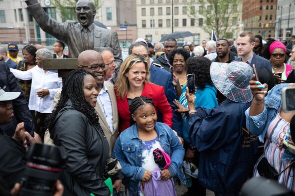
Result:
M125 74L129 71L129 69L131 69L131 67L135 63L139 63L139 62L144 63L144 66L145 66L146 74L145 74L144 82L150 83L148 80L149 79L148 62L140 54L130 54L122 62L121 66L120 66L119 75L118 75L116 82L114 84L114 88L117 91L117 96L123 100L124 100L125 95L127 94L128 88L129 88L129 81L128 81L128 78L126 77Z

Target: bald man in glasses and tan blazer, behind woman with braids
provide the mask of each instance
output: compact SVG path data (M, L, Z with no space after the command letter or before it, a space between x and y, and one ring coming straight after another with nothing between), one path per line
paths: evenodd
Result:
M101 61L101 62L100 62ZM103 58L101 54L94 50L85 50L78 56L78 69L84 69L92 74L97 84L97 103L95 110L99 116L99 124L104 132L104 135L109 144L109 155L114 147L114 143L118 137L118 112L117 102L113 89L113 85L107 81L104 81L106 69L102 70L93 67L98 64L103 64ZM98 67L97 67L98 68ZM107 67L106 67L107 68ZM92 71L94 70L94 71ZM60 98L60 92L57 92L53 100L53 108ZM53 141L48 138L49 133L46 131L44 137L45 144L53 144Z

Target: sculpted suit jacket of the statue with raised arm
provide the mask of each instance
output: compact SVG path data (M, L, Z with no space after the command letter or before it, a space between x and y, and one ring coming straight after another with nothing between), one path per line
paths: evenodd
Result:
M79 53L84 50L81 35L83 27L80 23L74 20L66 20L63 23L54 20L47 15L40 3L38 3L38 0L26 0L25 3L27 4L27 9L37 21L40 28L50 35L53 35L56 39L66 43L68 46L69 58L77 58ZM122 62L116 31L94 25L94 29L91 33L93 33L94 37L94 48L110 47L112 48L115 61L119 63Z

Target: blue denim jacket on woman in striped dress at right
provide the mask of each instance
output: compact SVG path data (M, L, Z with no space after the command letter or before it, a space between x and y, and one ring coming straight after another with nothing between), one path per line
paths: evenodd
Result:
M260 142L263 142L270 122L276 117L277 112L282 107L281 89L288 85L289 83L278 84L268 91L267 96L264 98L265 107L262 113L256 116L249 116L250 108L245 111L246 127L252 134L259 136Z

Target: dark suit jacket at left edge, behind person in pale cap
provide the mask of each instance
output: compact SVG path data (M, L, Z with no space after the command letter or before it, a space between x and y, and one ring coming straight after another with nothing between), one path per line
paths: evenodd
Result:
M0 61L0 87L6 92L20 92L18 98L12 100L14 117L10 123L0 125L0 129L8 136L13 136L17 123L31 120L31 114L19 84L10 72L7 63Z

